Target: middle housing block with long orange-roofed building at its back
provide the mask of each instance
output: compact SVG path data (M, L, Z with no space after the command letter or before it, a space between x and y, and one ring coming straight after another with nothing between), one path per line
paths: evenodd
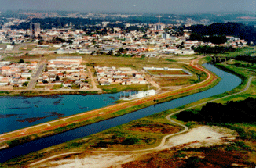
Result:
M89 89L86 66L81 65L82 57L57 57L49 60L37 86L59 85L61 88Z

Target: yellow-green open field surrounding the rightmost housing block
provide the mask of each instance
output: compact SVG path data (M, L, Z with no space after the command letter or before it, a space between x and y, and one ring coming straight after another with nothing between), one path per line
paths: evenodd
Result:
M29 54L24 54L19 57L13 57L13 56L7 56L5 57L6 61L11 61L11 62L18 62L20 59L24 59L25 62L29 61L34 61L37 60L39 62L46 62L49 59L55 59L57 56L78 56L79 54L71 54L71 55L57 55L57 54L46 54L46 55L29 55ZM92 55L79 55L82 56L82 64L85 64L88 69L92 71L94 74L95 71L93 69L93 66L115 66L117 68L120 67L130 67L132 70L138 70L139 73L144 73L142 70L143 67L145 66L154 66L154 67L170 67L170 68L182 68L182 69L188 69L192 70L191 72L193 75L191 77L185 77L185 78L179 78L179 79L157 79L160 86L166 87L166 86L185 86L188 84L196 84L199 83L200 81L203 81L205 78L205 73L200 72L199 70L195 70L191 68L188 64L192 62L191 59L194 59L196 57L185 57L185 56L173 56L173 59L181 59L182 63L176 63L176 62L170 62L169 59L166 58L144 58L144 59L137 59L137 58L126 58L126 57L115 57L115 56L109 56L109 55L97 55L97 56L92 56ZM188 59L187 59L188 58ZM164 73L172 73L172 74L186 74L182 71L170 71L170 72L164 72ZM147 73L145 73L147 74ZM200 78L199 78L200 76ZM150 76L149 80L152 80ZM93 76L93 80L97 83L95 75ZM163 84L162 84L163 82ZM92 79L90 79L90 84L93 84ZM161 88L159 86L156 86L153 84L154 87L157 88L157 90L160 90ZM151 85L151 89L154 89ZM98 87L98 88L97 88ZM37 88L35 88L34 92L31 92L31 96L33 95L38 95L38 91L45 91L45 90L38 90L36 91ZM56 89L56 88L54 88ZM73 88L74 90L77 90L77 88ZM107 92L116 92L116 91L143 91L146 89L144 84L141 85L131 85L131 86L122 86L122 85L115 85L115 86L93 86L93 91L107 91ZM112 90L113 89L113 90ZM148 88L147 88L148 89ZM167 88L162 88L163 91L167 91ZM67 92L67 91L66 91ZM61 91L61 93L66 93L65 91ZM9 95L17 95L19 93L13 93L9 91ZM20 93L22 94L22 93ZM0 95L6 95L6 94L0 94ZM26 94L27 95L27 94ZM39 94L40 95L40 94ZM43 93L42 95L51 95L50 92L48 94Z

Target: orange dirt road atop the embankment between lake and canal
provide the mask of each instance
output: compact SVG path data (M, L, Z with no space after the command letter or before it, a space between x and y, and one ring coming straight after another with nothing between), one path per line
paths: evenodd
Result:
M15 139L15 138L24 137L24 136L31 135L31 134L38 134L38 133L42 133L42 132L48 131L48 130L54 130L58 127L64 127L64 126L67 126L71 123L77 123L77 122L80 122L80 121L95 118L97 116L102 116L102 115L105 115L105 114L108 114L108 113L114 113L114 112L119 111L121 109L130 108L134 105L144 104L145 102L152 102L155 99L166 98L166 97L169 97L169 96L172 96L172 95L178 95L178 94L181 94L181 93L185 93L187 91L195 90L196 88L204 88L204 87L208 86L209 84L211 84L215 80L215 78L214 78L214 75L212 73L209 73L207 70L204 70L199 65L195 65L198 62L198 60L199 59L194 59L191 63L191 66L193 68L197 69L197 70L201 70L201 71L207 73L207 76L208 76L206 80L203 80L202 82L200 82L198 84L192 84L192 85L190 85L186 88L181 88L181 89L178 89L178 90L175 90L175 91L166 91L166 92L161 93L159 95L153 95L153 96L150 96L150 97L141 98L141 99L133 100L133 101L130 101L130 102L123 102L123 103L119 103L117 105L111 105L111 106L104 107L104 108L101 108L101 109L95 109L95 110L90 111L90 112L81 113L81 114L77 114L77 115L73 115L73 116L68 116L68 117L60 119L60 120L53 120L53 121L50 121L50 122L47 122L47 123L38 124L38 125L33 126L33 127L27 127L27 128L20 129L20 130L15 130L13 132L9 132L9 133L6 133L6 134L1 134L0 135L0 142L9 141L9 140L12 140L12 139ZM181 90L181 91L179 91L179 90ZM104 113L101 113L103 110L104 110ZM88 116L88 115L91 115L91 116ZM71 118L77 117L77 116L79 116L81 118L79 120L73 120L71 122L66 121L68 119L71 119ZM84 116L86 116L86 117L84 117ZM58 124L57 126L51 126L51 124L55 123L55 122L61 122L61 123Z

